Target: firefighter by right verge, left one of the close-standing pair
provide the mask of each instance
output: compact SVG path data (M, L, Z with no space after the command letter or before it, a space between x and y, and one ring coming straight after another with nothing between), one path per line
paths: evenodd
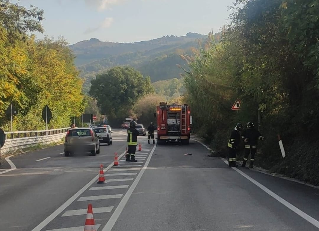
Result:
M236 164L236 154L240 143L240 130L242 129L242 124L237 123L236 127L232 131L232 134L230 135L230 139L228 141L228 166L229 167L237 167Z

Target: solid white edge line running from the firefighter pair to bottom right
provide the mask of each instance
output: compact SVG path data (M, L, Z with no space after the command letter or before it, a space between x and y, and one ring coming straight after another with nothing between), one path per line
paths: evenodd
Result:
M224 162L228 165L228 161L224 160ZM313 217L309 216L307 213L304 213L299 208L293 206L288 201L286 201L285 199L281 198L276 193L272 192L270 189L266 188L265 186L260 184L258 181L254 180L253 178L251 178L250 176L248 176L247 174L245 174L241 170L237 169L236 167L232 167L232 169L237 171L239 174L241 174L243 177L248 179L254 185L258 186L260 189L262 189L264 192L269 194L271 197L273 197L274 199L278 200L281 204L283 204L284 206L286 206L287 208L292 210L294 213L297 213L300 217L302 217L303 219L305 219L309 223L313 224L315 227L319 228L319 221L315 220ZM134 184L134 182L133 182L133 184Z

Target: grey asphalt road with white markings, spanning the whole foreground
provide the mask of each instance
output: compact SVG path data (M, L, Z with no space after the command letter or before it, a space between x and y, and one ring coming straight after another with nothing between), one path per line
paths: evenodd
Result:
M126 163L125 132L97 156L64 157L59 145L11 157L17 169L0 170L1 230L83 231L89 203L97 231L319 230L319 189L229 168L196 141L139 136L138 162ZM107 184L96 184L100 164Z

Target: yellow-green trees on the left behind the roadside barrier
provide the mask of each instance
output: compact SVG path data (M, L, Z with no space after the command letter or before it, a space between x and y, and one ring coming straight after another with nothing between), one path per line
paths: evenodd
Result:
M18 110L13 120L15 130L44 129L41 112L46 104L53 115L49 128L69 126L70 118L79 116L85 107L82 81L66 41L35 41L34 36L26 35L42 31L42 14L34 7L28 10L1 1L0 125L5 130L10 130L10 119L4 112L11 102Z

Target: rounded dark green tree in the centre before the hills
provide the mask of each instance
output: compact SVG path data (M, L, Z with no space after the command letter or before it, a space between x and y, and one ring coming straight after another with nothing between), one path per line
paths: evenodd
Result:
M143 77L132 67L114 67L91 81L89 94L109 120L122 121L139 98L153 91L149 76Z

